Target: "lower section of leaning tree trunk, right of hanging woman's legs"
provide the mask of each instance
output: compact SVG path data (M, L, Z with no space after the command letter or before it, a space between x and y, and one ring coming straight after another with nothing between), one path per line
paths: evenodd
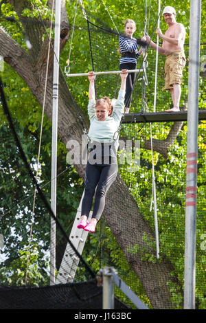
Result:
M155 258L155 234L120 177L108 191L104 217L130 267L141 281L152 308L172 309L168 282L179 282L172 279L170 260L165 256L160 257L161 260ZM152 258L148 260L150 256Z

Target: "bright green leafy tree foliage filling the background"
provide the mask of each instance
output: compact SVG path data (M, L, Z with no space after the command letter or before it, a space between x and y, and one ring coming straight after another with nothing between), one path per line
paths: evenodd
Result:
M25 34L29 28L23 20L19 21L19 12L14 11L14 2L8 1L8 3L1 4L1 28L3 28L16 43L18 43L25 52L29 52L25 45ZM43 21L47 25L47 32L49 32L49 20L51 19L52 10L48 8L47 1L28 1L30 5L21 12L21 19L25 17L28 24L34 23L34 21ZM48 1L51 3L51 1ZM21 4L25 1L19 1L19 9ZM130 17L137 23L136 36L141 37L144 34L145 23L148 28L148 33L152 34L157 23L157 1L151 1L151 7L147 8L147 19L150 9L150 19L146 18L146 1L139 1L138 5L136 1L116 1L115 4L111 0L107 1L84 1L84 7L91 12L94 17L104 21L104 25L113 27L111 17L108 15L108 11L115 21L115 25L118 30L123 31L123 21ZM32 4L32 6L31 6ZM38 6L38 10L36 8ZM89 46L89 36L87 30L87 21L85 21L80 6L78 5L78 14L75 16L76 3L75 1L67 1L67 14L69 17L69 24L73 25L75 19L75 29L73 30L73 40L65 46L64 51L60 56L60 66L62 70L67 65L67 59L69 57L69 51L71 49L70 58L70 72L86 72L92 69L91 52ZM106 5L106 6L105 6ZM189 43L190 25L190 1L184 0L181 3L176 1L170 1L170 5L174 5L178 14L178 21L183 23L186 28L186 41ZM107 9L107 10L106 10ZM39 16L41 12L41 19ZM119 14L121 12L121 14ZM202 6L202 12L205 12L205 3ZM2 17L12 16L18 23L8 21ZM55 17L54 17L55 19ZM202 17L202 32L201 43L205 43L205 16ZM34 28L35 28L34 24ZM166 25L161 19L161 29L164 31ZM41 36L44 39L47 38L47 34L43 28L43 25L39 28ZM34 29L35 32L35 29ZM52 32L54 38L54 30ZM155 34L154 34L155 40ZM37 38L37 37L36 37ZM36 43L32 47L32 52L37 52L38 47L41 47L43 41L39 37L39 43ZM106 45L104 44L106 47ZM100 48L101 49L101 48ZM102 48L103 49L103 48ZM201 53L204 54L205 47L202 47ZM1 54L1 51L0 51ZM154 53L149 53L150 61L154 56ZM33 56L35 53L33 53ZM104 56L104 52L102 54ZM150 63L150 62L149 62ZM12 64L11 64L12 65ZM34 69L34 66L32 67ZM32 75L31 71L31 75ZM161 71L159 71L161 74ZM154 70L148 67L148 76L150 79L150 89L153 89L153 76ZM161 75L161 77L163 77ZM160 77L160 79L161 79ZM38 98L34 97L34 92L30 90L29 85L19 76L15 69L10 67L10 62L4 64L4 70L1 72L1 78L3 79L4 91L8 100L8 105L14 119L16 130L21 139L21 144L31 167L35 170L36 161L38 157L38 143L40 138L41 129L41 104L38 102ZM187 80L184 82L184 89L187 95ZM67 80L67 86L71 91L73 98L76 100L78 107L81 111L87 111L88 100L88 81L87 78L70 78ZM152 104L151 90L148 89L148 102ZM153 91L153 90L152 90ZM185 96L184 96L185 97ZM163 97L161 93L158 96L159 105L161 108L167 108L168 97ZM181 102L184 103L183 100ZM200 78L200 100L199 108L205 109L205 81L204 78ZM19 155L19 151L16 150L16 146L8 123L3 115L3 110L0 110L1 115L1 152L0 152L0 168L1 168L1 232L5 238L5 258L9 257L13 259L12 264L8 267L8 276L3 276L1 273L1 282L5 282L9 277L9 282L16 285L22 285L24 280L23 271L21 266L25 268L25 253L27 250L27 243L29 240L29 228L31 225L32 203L34 187L32 186L31 179L28 177L27 172L23 168L23 162ZM77 112L78 115L78 112ZM152 135L158 140L164 140L166 135L170 132L172 124L155 124L152 127ZM81 130L80 130L81 131ZM204 271L205 271L205 250L201 247L203 239L201 238L205 234L205 122L199 123L198 133L198 208L197 208L197 254L196 254L196 303L199 309L205 308L205 289L203 288ZM121 135L127 135L128 139L133 139L138 135L138 138L150 139L150 127L144 125L139 132L139 126L126 126L122 129ZM52 137L52 124L51 120L45 115L43 120L43 138L41 145L41 186L47 199L50 198L50 169L51 169L51 137ZM158 205L158 217L159 217L159 239L161 243L161 257L159 261L163 261L165 254L171 260L174 271L173 276L177 276L183 287L183 269L184 269L184 214L185 214L185 166L186 166L186 146L187 146L187 124L185 123L176 138L174 144L168 151L168 159L157 152L153 153L153 162L155 164L155 177L157 181L157 205ZM73 223L76 209L82 194L82 179L78 175L78 172L73 166L66 164L65 142L59 137L58 140L58 216L63 226L69 232ZM152 197L152 164L151 164L151 152L149 150L141 149L141 170L139 172L128 172L128 165L119 166L119 173L124 179L126 186L130 193L133 195L141 214L144 214L144 219L150 223L153 230L154 219L152 212L150 211L150 203ZM32 261L30 267L30 283L41 284L47 281L47 274L39 271L38 279L34 280L34 276L38 272L37 267L41 267L39 260L36 258L36 250L38 253L46 253L49 247L49 234L45 235L45 232L49 232L49 221L45 216L46 214L43 203L37 200L36 202L36 225L33 232L33 245L32 245ZM19 219L21 221L19 221ZM22 225L22 222L26 225ZM47 228L47 230L45 230ZM87 260L95 269L98 269L99 261L95 258L95 252L100 241L100 232L97 232L96 236L91 236L85 247L84 254ZM117 250L118 244L115 241L114 236L110 228L106 227L106 238L104 240L104 247L106 253L104 256L109 257L104 259L105 263L113 263L122 277L130 284L130 276L133 280L137 280L137 277L129 269L128 264L122 265L124 262L124 254L121 249ZM21 237L20 239L18 237ZM147 243L148 237L143 235L144 240ZM39 244L38 242L41 241ZM152 241L154 244L154 241ZM14 247L15 246L15 247ZM61 239L58 240L59 249L65 247L61 244ZM128 250L131 254L141 253L141 260L157 263L157 259L154 254L148 252L148 250L140 250L139 245L128 246ZM21 257L19 258L19 253ZM17 260L16 260L17 259ZM33 267L32 267L33 266ZM37 266L37 267L36 267ZM128 274L129 273L129 274ZM178 284L172 282L172 279L168 281L170 285L171 294L173 296L174 307L181 308L182 306L182 291ZM144 289L139 283L136 284L138 289L137 293L143 300L146 300L148 304L150 301L144 293Z

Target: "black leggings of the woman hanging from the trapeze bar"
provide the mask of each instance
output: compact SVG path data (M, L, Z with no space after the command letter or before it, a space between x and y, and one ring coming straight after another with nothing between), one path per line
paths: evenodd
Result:
M108 191L108 188L110 188L113 181L115 181L117 172L118 166L116 158L112 158L111 164L91 165L88 161L84 179L85 189L82 200L81 215L86 215L87 217L89 216L93 196L95 194L92 218L99 221L104 210L106 192ZM97 189L95 192L96 187Z

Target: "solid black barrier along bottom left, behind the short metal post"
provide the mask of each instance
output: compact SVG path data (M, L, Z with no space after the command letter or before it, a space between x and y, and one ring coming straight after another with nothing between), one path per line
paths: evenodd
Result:
M0 309L102 309L102 287L95 280L45 287L1 287ZM115 309L129 307L115 298Z

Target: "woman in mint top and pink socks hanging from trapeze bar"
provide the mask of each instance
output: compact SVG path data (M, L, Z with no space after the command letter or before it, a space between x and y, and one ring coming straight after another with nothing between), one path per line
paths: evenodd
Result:
M84 197L82 199L81 219L79 229L95 232L95 227L102 215L105 205L105 197L108 188L117 177L117 148L119 146L119 123L124 113L124 96L126 90L126 78L128 73L121 73L121 87L113 109L111 100L107 97L95 101L95 75L89 77L89 104L88 113L89 128L89 157L84 178ZM91 221L87 223L89 212L92 208Z

